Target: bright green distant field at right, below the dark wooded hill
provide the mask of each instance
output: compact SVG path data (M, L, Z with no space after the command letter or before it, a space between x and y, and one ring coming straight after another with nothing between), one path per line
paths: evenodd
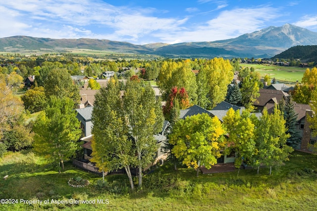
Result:
M266 65L266 64L241 64L243 68L245 67L254 67L257 72L261 74L262 77L265 75L270 75L270 78L275 78L281 83L291 82L296 83L302 81L303 75L307 68L300 67L284 67L284 66L275 66L275 65Z

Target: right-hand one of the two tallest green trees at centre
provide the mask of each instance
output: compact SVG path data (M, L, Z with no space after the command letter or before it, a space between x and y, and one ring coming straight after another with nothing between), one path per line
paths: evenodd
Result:
M135 147L138 186L141 188L142 169L152 162L158 149L154 134L162 129L163 113L151 85L138 80L127 82L123 107Z

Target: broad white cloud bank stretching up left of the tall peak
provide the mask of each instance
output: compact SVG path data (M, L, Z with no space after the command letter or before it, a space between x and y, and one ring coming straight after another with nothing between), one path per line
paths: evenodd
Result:
M169 39L169 37L177 38L181 42L203 42L235 38L245 33L263 29L266 21L272 21L279 15L277 8L269 6L225 10L204 25L182 32L174 31L170 36L163 35L162 40L172 43L175 39Z

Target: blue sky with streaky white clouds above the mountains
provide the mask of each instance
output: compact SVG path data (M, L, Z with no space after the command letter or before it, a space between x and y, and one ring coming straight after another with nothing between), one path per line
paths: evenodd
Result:
M317 0L1 0L0 38L146 44L236 38L286 23L317 32Z

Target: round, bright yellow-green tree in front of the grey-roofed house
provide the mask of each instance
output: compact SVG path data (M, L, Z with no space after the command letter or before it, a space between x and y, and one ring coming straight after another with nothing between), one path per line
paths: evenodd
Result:
M224 129L217 117L198 114L179 120L169 135L169 143L173 145L171 152L188 167L197 170L201 164L207 169L217 163L224 146Z

